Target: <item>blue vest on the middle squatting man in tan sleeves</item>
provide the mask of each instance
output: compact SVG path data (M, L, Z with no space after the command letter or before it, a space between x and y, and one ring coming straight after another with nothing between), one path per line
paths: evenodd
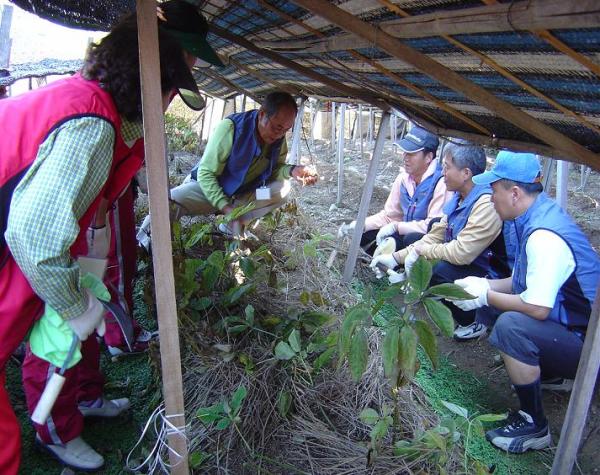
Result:
M469 216L471 216L471 210L475 205L475 202L483 195L491 195L492 189L489 185L475 185L471 192L466 198L460 202L460 193L457 191L454 196L450 198L450 201L444 206L444 214L448 216L448 224L446 225L446 236L445 242L454 241L463 228L467 224ZM484 269L486 273L490 270L490 254L489 248L483 250L479 256L477 256L472 265L479 266Z

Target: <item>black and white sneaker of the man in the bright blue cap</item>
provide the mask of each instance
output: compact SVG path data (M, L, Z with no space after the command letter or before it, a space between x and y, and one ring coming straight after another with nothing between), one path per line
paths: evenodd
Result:
M486 432L485 438L496 447L513 454L522 454L529 449L544 449L552 443L548 423L537 426L531 416L523 411L511 414L504 427Z

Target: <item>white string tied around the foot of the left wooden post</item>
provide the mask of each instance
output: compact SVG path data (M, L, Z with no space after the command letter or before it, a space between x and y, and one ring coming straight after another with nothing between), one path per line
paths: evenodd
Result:
M169 418L173 417L182 417L183 414L165 414L164 403L161 403L150 415L148 420L146 421L146 425L142 430L142 434L140 438L127 454L126 459L126 467L127 470L136 473L147 473L147 474L155 474L155 473L171 473L171 468L173 467L169 462L169 452L175 454L178 459L181 459L181 454L177 453L171 447L169 447L169 443L167 438L173 434L177 434L180 437L185 439L186 445L188 444L188 438L186 435L187 427L177 427L175 426ZM154 444L149 451L148 456L137 466L132 466L131 459L133 458L133 454L136 452L136 449L139 447L139 452L144 451L144 447L142 447L142 442L146 438L146 433L150 433L150 430L154 430L153 436L149 434L149 437L155 438Z

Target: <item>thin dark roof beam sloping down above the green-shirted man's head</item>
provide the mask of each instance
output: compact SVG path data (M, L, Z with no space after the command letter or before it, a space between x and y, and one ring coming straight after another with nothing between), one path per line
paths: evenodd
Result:
M224 30L223 28L219 28L218 26L215 26L215 25L210 25L209 28L212 33L214 33L217 36L220 36L221 38L224 38L232 43L242 46L242 47L246 48L247 50L253 51L254 53L257 53L261 56L269 58L271 61L273 61L277 64L280 64L282 66L285 66L286 68L289 68L293 71L296 71L297 73L300 73L303 76L306 76L307 78L313 79L315 81L319 81L319 82L331 87L332 89L335 89L336 91L338 91L344 95L347 95L348 97L359 98L365 102L373 104L375 107L379 107L380 109L388 109L388 107L389 107L387 105L387 103L385 103L381 99L377 98L376 96L364 93L363 91L361 91L359 89L356 89L351 86L347 86L346 84L342 84L338 81L335 81L323 74L319 74L299 63L296 63L290 59L285 58L284 56L281 56L278 53L274 53L272 51L269 51L269 50L266 50L263 48L259 48L251 41L248 41L247 39L242 38L241 36L234 35L233 33L229 32L227 30Z

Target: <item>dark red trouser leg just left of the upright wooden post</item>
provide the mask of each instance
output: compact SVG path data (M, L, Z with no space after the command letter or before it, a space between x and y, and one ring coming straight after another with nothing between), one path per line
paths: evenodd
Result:
M133 187L129 185L114 207L109 211L111 242L108 251L108 266L104 281L108 284L113 301L131 315L133 311L133 278L136 272L137 240L135 237ZM134 338L141 331L133 321ZM126 346L123 333L112 315L106 316L104 342L108 346Z

